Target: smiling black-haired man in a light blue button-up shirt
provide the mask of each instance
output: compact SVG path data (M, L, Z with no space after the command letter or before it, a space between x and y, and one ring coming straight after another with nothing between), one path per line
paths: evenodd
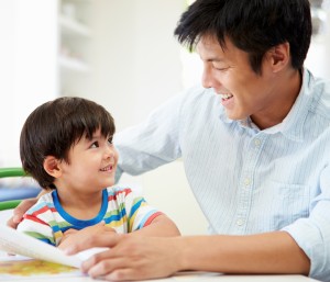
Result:
M116 136L119 172L183 158L209 236L103 234L92 277L139 280L180 270L299 273L330 281L330 84L304 69L308 0L197 0L175 31L196 46L202 87Z

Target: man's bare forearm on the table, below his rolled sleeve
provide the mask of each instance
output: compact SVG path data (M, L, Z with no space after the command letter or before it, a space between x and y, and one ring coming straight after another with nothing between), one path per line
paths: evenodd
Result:
M223 273L309 273L310 261L285 232L194 236L177 241L182 270Z

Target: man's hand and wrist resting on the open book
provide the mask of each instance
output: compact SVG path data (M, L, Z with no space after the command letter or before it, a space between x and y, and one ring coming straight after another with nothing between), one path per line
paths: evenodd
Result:
M180 270L182 237L144 237L129 234L95 234L76 240L66 249L73 255L92 247L109 247L82 263L92 278L109 281L144 280L168 277Z

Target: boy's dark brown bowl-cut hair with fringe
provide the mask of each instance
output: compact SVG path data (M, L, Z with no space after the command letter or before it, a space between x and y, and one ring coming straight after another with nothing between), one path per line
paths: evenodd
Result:
M43 168L46 156L69 163L68 151L81 138L92 138L100 128L102 136L113 136L111 114L101 105L82 99L63 97L37 106L26 119L20 138L23 169L38 184L55 189L54 178Z

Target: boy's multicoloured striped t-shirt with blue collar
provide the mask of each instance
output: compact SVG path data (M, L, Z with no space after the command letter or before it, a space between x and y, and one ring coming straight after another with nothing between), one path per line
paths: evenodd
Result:
M103 221L106 226L124 234L147 226L160 214L130 188L111 187L102 191L99 214L91 219L78 219L64 211L54 190L41 196L24 214L18 230L58 246L64 233L70 228L80 230Z

